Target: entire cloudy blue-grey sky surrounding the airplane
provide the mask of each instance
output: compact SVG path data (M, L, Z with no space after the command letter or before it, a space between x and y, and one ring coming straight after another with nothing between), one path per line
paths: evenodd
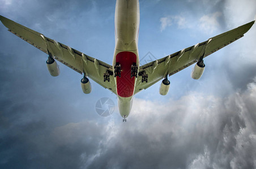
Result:
M115 1L0 0L0 15L111 64ZM256 1L140 1L141 63L249 23ZM134 97L127 122L116 95L59 63L0 24L0 168L256 168L256 28ZM101 117L102 97L116 104Z

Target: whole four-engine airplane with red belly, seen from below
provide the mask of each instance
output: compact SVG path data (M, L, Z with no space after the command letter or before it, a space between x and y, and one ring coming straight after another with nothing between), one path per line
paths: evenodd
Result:
M255 22L255 20L251 21L236 29L209 38L207 41L140 66L138 54L139 0L116 1L115 48L112 65L50 39L44 34L15 23L6 17L0 16L0 20L8 28L8 31L48 54L46 65L52 76L59 75L59 66L56 62L58 60L83 75L81 87L84 94L89 94L92 90L89 78L116 94L123 122L126 122L126 118L131 112L135 94L163 79L159 93L167 95L170 87L168 77L194 63L196 64L191 72L191 77L199 79L205 68L204 57L243 37Z

